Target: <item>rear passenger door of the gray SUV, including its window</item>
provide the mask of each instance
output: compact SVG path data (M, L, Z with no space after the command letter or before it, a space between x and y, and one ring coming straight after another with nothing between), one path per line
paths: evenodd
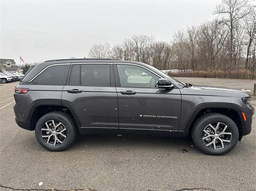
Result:
M81 131L118 131L118 100L112 63L72 64L62 104L71 107Z

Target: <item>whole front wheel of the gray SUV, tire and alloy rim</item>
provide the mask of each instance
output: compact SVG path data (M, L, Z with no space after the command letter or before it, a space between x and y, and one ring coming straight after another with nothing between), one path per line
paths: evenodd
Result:
M209 155L223 155L237 144L239 131L236 123L220 113L208 113L196 120L192 140L196 147Z

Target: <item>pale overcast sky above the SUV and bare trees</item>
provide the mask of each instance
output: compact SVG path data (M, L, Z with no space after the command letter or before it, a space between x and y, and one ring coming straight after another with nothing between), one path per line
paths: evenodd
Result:
M114 45L132 34L169 42L175 31L213 19L220 2L0 0L0 58L83 58L94 43Z

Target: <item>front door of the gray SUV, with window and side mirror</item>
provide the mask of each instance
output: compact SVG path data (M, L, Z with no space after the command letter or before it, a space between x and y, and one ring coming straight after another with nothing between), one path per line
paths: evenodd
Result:
M181 95L178 88L159 89L159 75L145 67L116 64L119 131L178 132Z

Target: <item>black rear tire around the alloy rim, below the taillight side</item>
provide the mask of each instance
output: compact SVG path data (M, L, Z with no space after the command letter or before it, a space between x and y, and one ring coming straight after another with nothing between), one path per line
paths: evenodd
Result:
M61 122L64 125L64 127L66 128L66 130L65 130L66 138L62 144L53 146L53 145L48 144L46 142L46 140L44 138L42 138L42 132L43 132L42 129L46 128L45 123L50 120ZM63 151L65 149L67 149L69 146L71 146L74 143L74 141L76 140L77 126L76 126L76 123L74 122L74 119L70 115L68 115L64 112L54 111L54 112L45 114L38 120L38 122L36 123L35 134L36 134L36 139L37 139L38 143L43 148L45 148L49 151Z

